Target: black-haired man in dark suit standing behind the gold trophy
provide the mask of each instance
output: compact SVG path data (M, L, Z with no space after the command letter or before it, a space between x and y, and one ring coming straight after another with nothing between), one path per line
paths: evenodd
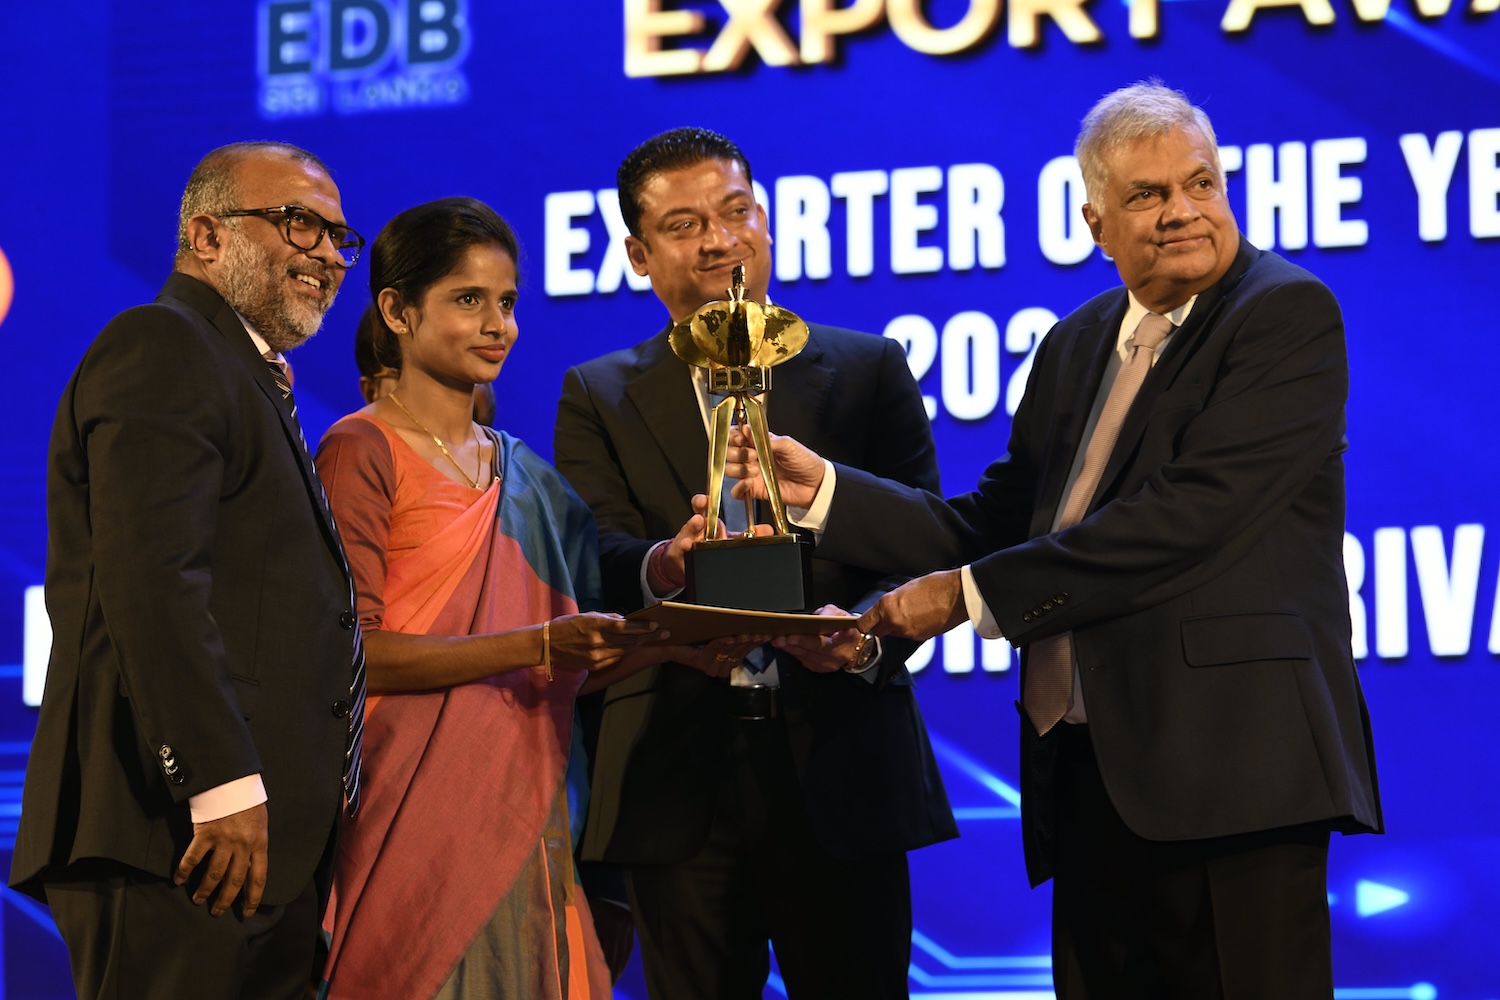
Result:
M740 262L746 297L766 301L765 210L724 136L646 141L620 168L620 204L632 265L672 321L726 298ZM568 370L558 409L556 463L598 519L618 610L681 586L678 529L705 489L706 385L668 330ZM840 462L938 489L890 340L813 324L768 414ZM840 607L879 580L824 559L813 573L816 601ZM652 997L759 999L766 940L794 999L906 996L906 852L957 828L904 667L915 645L855 664L855 639L756 651L728 682L664 664L608 691L584 852L627 867Z

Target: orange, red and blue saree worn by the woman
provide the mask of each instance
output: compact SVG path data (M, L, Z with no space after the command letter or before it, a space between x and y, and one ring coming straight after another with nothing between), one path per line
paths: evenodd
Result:
M597 603L588 508L494 433L498 481L441 475L364 414L318 472L366 631L465 636ZM580 672L540 666L372 696L360 811L339 838L326 996L598 1000L609 973L578 889L564 772Z

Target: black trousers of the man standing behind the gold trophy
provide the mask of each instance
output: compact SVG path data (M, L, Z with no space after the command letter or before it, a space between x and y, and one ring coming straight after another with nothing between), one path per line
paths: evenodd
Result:
M790 1000L906 997L906 855L831 856L807 820L784 721L726 726L732 763L708 841L681 864L627 870L646 991L760 1000L770 940Z

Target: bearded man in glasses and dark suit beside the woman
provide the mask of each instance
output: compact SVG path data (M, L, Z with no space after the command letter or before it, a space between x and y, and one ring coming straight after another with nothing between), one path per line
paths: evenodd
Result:
M10 880L51 906L80 997L285 1000L312 976L363 660L282 352L362 244L310 153L214 150L174 274L63 393Z

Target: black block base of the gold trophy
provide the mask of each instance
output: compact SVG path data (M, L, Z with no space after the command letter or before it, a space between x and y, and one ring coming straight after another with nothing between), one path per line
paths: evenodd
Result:
M813 546L796 535L714 538L687 553L682 600L747 612L801 612L813 603Z

